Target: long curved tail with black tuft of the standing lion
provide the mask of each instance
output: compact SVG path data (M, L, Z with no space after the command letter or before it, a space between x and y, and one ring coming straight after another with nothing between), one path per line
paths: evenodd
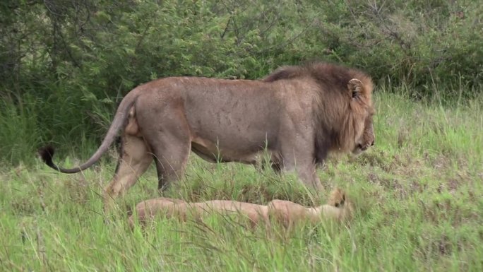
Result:
M100 159L102 154L104 154L107 151L107 148L109 148L109 146L111 146L111 144L114 142L114 139L116 138L117 133L124 126L124 123L126 122L129 109L134 105L134 102L136 102L138 93L139 93L139 89L134 89L134 90L131 90L131 92L129 92L126 95L126 97L124 97L124 99L121 101L121 104L119 104L119 107L117 108L116 114L114 116L114 120L112 121L111 126L109 126L109 130L107 131L107 134L104 140L102 140L100 147L97 148L94 155L92 155L89 158L89 160L85 162L83 165L80 165L78 167L73 167L73 168L63 168L63 167L57 166L52 161L52 157L54 156L54 148L52 146L45 146L43 148L40 148L38 150L38 154L40 155L40 158L45 162L45 164L47 164L49 167L53 168L54 170L57 170L62 173L67 173L67 174L81 172L91 167L95 162L97 162L97 160Z

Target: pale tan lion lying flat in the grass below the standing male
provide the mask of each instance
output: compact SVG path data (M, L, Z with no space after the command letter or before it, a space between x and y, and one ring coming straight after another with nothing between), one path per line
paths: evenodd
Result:
M229 215L239 213L249 219L251 227L259 223L270 224L276 220L284 227L290 228L294 223L306 220L316 224L323 220L348 220L352 218L352 204L346 200L345 193L335 189L330 194L328 203L314 208L306 208L292 201L275 199L267 205L253 203L213 200L197 203L188 203L180 199L158 198L149 199L136 205L136 213L129 216L129 225L134 227L135 216L138 222L145 226L148 220L156 216L165 218L201 218L208 214Z

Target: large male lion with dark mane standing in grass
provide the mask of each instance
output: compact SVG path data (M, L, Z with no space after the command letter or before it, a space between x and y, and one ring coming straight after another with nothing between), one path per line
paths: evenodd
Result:
M275 170L296 171L323 189L316 164L328 152L360 153L374 144L371 78L335 64L286 66L261 81L170 77L139 85L121 101L93 165L121 133L121 156L105 201L124 194L155 159L158 187L184 172L190 150L210 162L256 164L270 154ZM106 202L106 204L107 204Z

